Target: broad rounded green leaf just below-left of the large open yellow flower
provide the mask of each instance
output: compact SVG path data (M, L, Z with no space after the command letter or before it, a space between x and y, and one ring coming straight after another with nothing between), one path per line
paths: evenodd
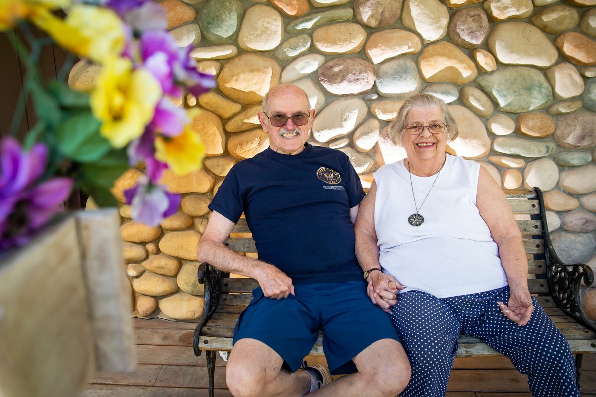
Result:
M90 111L76 112L56 129L60 152L77 162L93 162L110 151L110 143L100 135L101 122Z

